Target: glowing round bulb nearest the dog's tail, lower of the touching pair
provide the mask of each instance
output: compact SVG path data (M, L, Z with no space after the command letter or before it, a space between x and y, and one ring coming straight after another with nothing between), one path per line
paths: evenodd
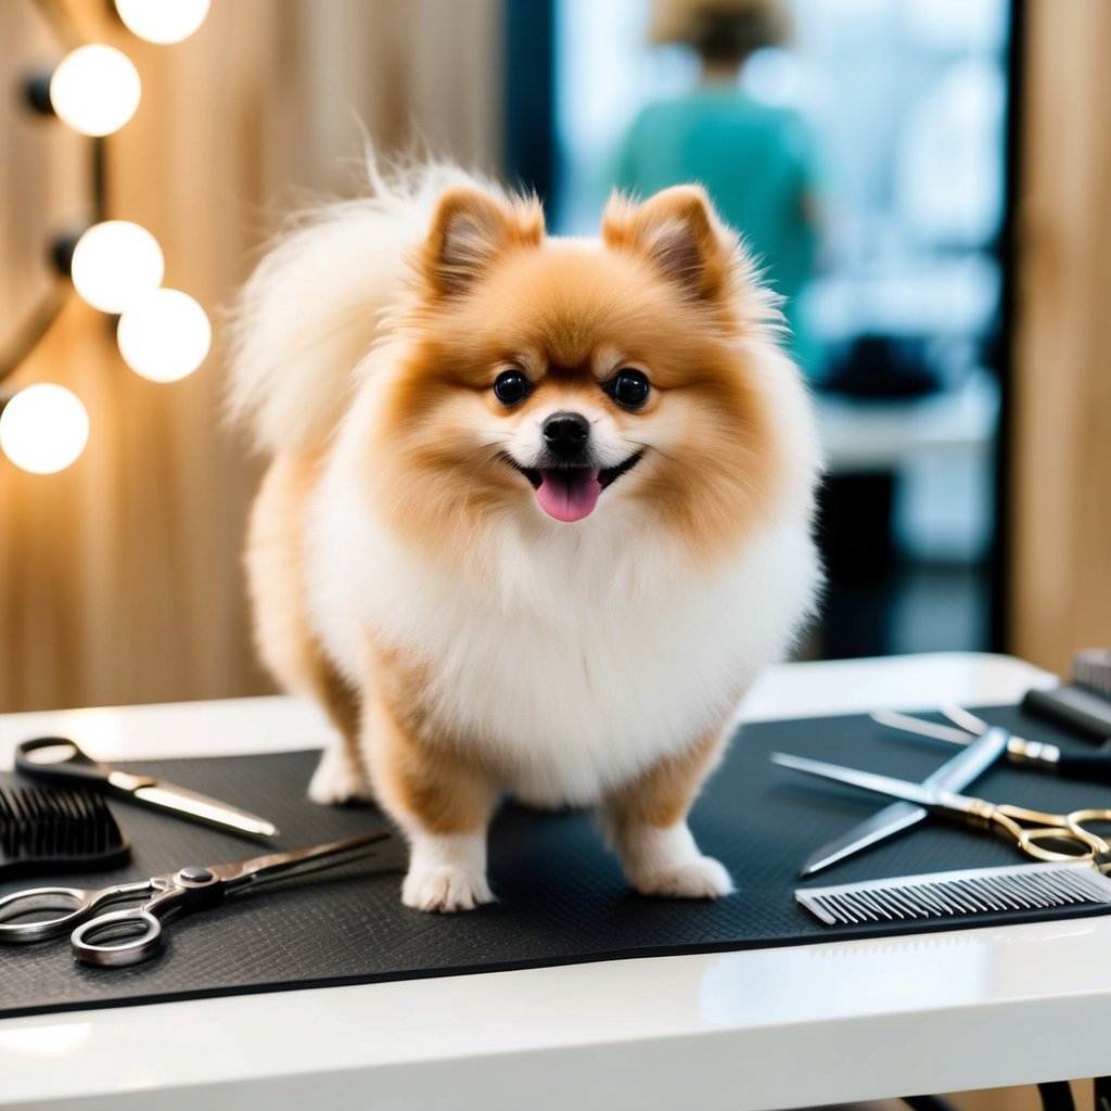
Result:
M176 289L157 289L120 317L116 331L123 361L152 382L173 382L191 374L212 343L204 310Z

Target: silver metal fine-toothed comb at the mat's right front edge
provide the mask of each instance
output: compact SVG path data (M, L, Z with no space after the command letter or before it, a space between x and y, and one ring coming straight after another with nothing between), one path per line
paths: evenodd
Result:
M1090 863L1013 864L805 888L795 900L825 925L1111 903L1111 879Z

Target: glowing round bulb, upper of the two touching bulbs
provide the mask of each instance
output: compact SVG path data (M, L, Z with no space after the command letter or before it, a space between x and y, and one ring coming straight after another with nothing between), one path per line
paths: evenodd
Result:
M158 289L166 262L158 240L128 220L94 223L77 241L70 274L77 291L101 312L123 312Z

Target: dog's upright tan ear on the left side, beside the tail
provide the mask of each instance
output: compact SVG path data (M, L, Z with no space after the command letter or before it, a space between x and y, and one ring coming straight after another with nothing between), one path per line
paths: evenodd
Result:
M441 196L420 269L437 297L459 297L511 250L539 247L544 236L540 202L502 201L478 189Z

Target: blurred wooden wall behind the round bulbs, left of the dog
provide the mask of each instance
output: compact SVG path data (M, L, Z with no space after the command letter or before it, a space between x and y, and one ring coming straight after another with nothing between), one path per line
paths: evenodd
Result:
M69 386L92 432L57 476L0 459L0 711L266 691L239 565L259 467L221 427L219 313L281 210L306 191L352 191L357 118L382 150L421 133L497 166L500 6L218 0L194 37L166 47L130 36L103 0L68 9L143 81L136 117L108 140L110 216L158 237L166 284L201 301L217 343L196 376L156 386L124 368L110 322L74 299L10 383ZM28 59L61 57L30 0L6 0L0 20L7 81ZM22 288L8 260L41 234L23 232L42 198L80 202L87 152L57 123L4 127L18 141L4 150L0 291Z

